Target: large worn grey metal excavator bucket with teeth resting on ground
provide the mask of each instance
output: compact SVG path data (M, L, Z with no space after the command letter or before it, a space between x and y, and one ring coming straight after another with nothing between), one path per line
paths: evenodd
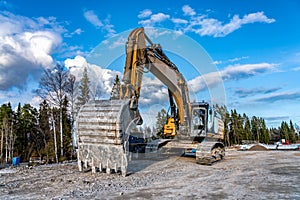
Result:
M127 137L135 126L129 100L98 100L85 104L79 111L77 125L78 167L92 172L121 171L126 176Z

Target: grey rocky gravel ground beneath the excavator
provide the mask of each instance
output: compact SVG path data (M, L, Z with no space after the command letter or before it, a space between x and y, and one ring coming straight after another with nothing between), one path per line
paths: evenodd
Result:
M227 150L212 166L146 156L128 175L79 172L76 163L0 170L0 199L300 199L299 151Z

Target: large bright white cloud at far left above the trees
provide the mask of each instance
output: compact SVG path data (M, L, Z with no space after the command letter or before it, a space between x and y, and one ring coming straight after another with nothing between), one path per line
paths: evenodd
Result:
M52 17L30 19L0 12L0 90L24 89L30 76L38 77L51 67L51 54L62 44L64 31Z

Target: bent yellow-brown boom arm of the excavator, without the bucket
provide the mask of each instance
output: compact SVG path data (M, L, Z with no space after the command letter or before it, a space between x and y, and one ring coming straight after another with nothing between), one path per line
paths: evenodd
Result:
M120 99L131 99L132 108L138 107L145 68L168 87L176 101L179 124L188 126L191 108L185 79L164 54L161 46L152 43L144 28L137 28L128 37L123 84L119 89Z

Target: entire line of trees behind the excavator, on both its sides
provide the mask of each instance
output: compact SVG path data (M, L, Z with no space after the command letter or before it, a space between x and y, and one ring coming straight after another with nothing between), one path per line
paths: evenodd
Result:
M119 79L116 77L115 84ZM0 107L0 163L10 163L13 157L22 162L30 158L44 159L47 163L72 159L74 119L80 106L91 98L87 68L79 81L64 66L44 71L36 94L41 97L38 108L30 104L13 109L10 103ZM113 94L112 94L113 95ZM282 122L276 129L268 129L261 117L249 118L236 110L227 111L216 106L225 125L226 146L243 141L270 143L286 139L293 143L299 139L292 121ZM166 112L158 113L156 128L165 122ZM151 131L151 129L149 128ZM149 132L148 130L148 132Z

